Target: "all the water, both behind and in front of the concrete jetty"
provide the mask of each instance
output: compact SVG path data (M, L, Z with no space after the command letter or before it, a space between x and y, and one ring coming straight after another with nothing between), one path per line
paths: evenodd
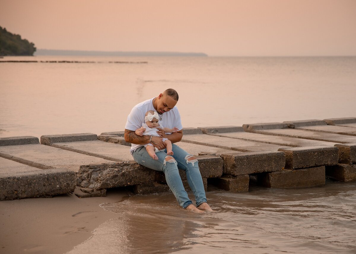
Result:
M166 88L184 127L356 117L356 57L14 59L96 63L0 63L0 137L122 131ZM207 196L215 213L187 213L170 193L102 204L117 218L70 253L356 253L355 183Z

